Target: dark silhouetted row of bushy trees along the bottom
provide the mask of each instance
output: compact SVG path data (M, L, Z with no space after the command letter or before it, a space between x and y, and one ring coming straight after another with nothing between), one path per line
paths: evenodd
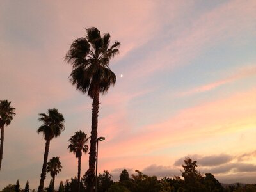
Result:
M136 174L129 175L129 172L124 169L119 176L117 182L113 182L112 175L104 170L97 179L98 192L253 192L256 191L256 184L241 185L239 183L225 186L211 173L204 175L198 170L196 161L189 157L184 160L180 176L164 177L157 179L156 176L148 176L136 170ZM58 192L77 192L80 186L81 192L88 192L88 184L86 183L86 175L81 179L80 185L77 177L66 180L65 184L60 182ZM45 192L57 192L52 188L52 180ZM29 184L27 182L26 188L28 190ZM24 191L20 189L19 180L16 185L6 186L2 192L16 192ZM25 189L26 191L26 189Z

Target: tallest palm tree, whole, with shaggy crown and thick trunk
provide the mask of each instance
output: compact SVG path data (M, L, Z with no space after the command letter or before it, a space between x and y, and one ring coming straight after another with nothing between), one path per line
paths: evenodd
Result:
M120 42L110 44L110 35L100 35L97 28L86 29L87 36L74 40L65 60L72 65L70 82L77 90L87 93L93 99L92 130L90 139L89 169L86 172L90 191L95 180L96 140L99 113L99 93L106 93L115 85L116 76L109 68L109 61L118 54Z

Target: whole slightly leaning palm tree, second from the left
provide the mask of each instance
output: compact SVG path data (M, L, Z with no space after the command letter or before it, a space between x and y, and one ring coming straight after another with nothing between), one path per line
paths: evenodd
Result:
M61 131L65 129L64 117L61 113L58 112L58 109L48 109L48 114L39 113L40 118L38 120L43 124L37 129L38 134L42 132L44 134L45 140L45 151L44 151L44 163L41 173L40 184L38 187L38 192L43 192L44 180L46 176L46 164L49 154L50 141L54 137L58 137L61 134Z

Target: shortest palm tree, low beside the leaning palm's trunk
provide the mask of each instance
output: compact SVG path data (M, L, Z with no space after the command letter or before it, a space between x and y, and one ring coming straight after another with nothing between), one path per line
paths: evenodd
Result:
M55 182L55 176L58 175L61 172L61 163L60 163L60 157L52 157L47 162L47 173L50 173L52 177L52 189L54 189L54 182Z

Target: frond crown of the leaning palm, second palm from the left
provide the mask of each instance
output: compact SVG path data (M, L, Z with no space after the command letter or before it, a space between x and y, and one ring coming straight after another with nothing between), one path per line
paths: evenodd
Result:
M58 112L58 109L48 109L48 115L45 113L39 113L39 121L43 124L38 128L37 132L42 132L44 134L45 140L54 137L58 137L61 134L61 131L65 129L64 117L61 113Z

